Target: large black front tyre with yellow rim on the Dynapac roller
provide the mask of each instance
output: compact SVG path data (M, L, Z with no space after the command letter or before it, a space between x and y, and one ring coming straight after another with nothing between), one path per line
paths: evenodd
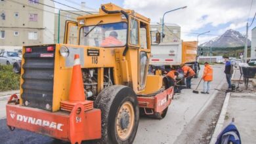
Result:
M139 126L139 105L131 88L121 85L105 88L98 94L95 108L101 110L100 143L133 143Z

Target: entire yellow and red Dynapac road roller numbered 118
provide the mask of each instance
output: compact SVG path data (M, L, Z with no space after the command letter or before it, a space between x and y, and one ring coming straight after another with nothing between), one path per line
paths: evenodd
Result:
M24 46L7 125L71 143L133 143L139 116L164 118L173 97L148 75L150 45L150 19L112 3L67 21L63 44Z

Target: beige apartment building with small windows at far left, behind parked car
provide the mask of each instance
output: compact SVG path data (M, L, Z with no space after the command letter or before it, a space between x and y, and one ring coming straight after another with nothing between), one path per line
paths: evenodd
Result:
M54 41L54 2L0 0L0 48L40 45Z

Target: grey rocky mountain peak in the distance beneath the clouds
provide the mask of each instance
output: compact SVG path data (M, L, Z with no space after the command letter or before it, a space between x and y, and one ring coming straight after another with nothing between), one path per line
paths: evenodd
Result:
M200 46L213 46L213 47L237 47L244 46L245 35L242 35L239 31L228 29L219 37L202 43ZM251 46L251 41L248 39L247 45Z

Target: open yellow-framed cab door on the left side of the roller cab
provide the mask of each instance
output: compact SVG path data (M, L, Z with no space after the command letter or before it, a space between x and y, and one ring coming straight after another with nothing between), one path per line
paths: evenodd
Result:
M64 33L64 44L78 45L78 26L77 22L67 20L65 33Z

